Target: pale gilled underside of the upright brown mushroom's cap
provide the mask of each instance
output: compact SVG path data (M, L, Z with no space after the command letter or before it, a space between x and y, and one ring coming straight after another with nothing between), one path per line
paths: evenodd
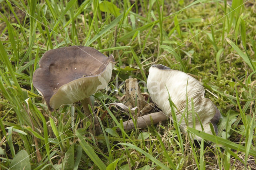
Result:
M95 77L82 77L61 86L50 99L50 107L58 109L61 105L72 104L89 97L100 89L106 88L111 79L114 63L108 63L106 69Z

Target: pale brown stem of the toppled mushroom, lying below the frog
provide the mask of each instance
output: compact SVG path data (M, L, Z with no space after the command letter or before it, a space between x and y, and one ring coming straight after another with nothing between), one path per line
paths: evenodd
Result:
M156 124L160 121L166 121L168 119L168 116L166 116L162 112L150 113L148 115L138 117L137 128L145 128L147 127L147 125L151 125L150 117L152 117L153 124ZM129 121L123 122L123 125L124 125L124 130L134 129L134 123L132 122L132 119Z

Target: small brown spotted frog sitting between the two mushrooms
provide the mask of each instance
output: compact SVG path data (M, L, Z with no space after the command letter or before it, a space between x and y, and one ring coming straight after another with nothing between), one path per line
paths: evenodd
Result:
M141 93L138 80L136 78L129 78L126 79L125 83L126 89L124 100L126 102L124 104L130 108L137 107L138 113L142 116L150 113L154 108L154 103L147 103L144 98L144 95L147 96L147 94L144 93L143 95Z

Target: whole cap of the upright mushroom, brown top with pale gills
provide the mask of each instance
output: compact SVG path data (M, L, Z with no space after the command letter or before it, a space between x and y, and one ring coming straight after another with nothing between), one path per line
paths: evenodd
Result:
M33 84L50 111L85 99L105 88L115 60L92 47L71 46L46 51L33 75Z

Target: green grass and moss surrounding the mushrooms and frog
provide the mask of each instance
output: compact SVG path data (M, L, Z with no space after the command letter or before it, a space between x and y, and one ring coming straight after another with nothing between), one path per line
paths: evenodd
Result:
M252 0L0 0L0 168L256 168L255 9ZM110 89L94 95L101 136L80 103L50 112L33 87L40 57L71 45L114 53ZM218 136L188 128L204 139L192 141L168 121L123 130L128 117L108 104L154 63L201 81L222 113Z

